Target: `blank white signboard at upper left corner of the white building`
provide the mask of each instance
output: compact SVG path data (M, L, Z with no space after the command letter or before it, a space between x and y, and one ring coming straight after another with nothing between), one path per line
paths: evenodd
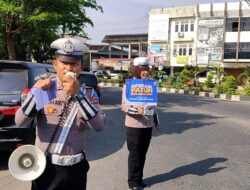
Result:
M169 15L149 15L149 41L168 41Z

